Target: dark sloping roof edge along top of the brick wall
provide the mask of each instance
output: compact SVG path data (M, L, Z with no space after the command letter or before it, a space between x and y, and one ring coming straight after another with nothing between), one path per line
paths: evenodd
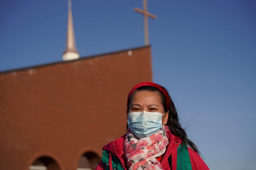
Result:
M135 48L127 48L127 49L113 51L113 52L109 52L109 53L102 53L102 54L84 56L84 57L81 57L79 59L70 60L70 61L57 61L57 62L51 62L51 63L46 63L46 64L38 64L38 65L34 65L34 66L29 66L29 67L21 67L21 68L18 68L18 69L10 69L10 70L6 70L6 71L3 71L3 72L0 72L0 74L8 73L8 72L14 72L14 71L22 71L22 70L26 70L26 69L32 69L32 68L43 67L43 66L59 64L59 63L65 63L65 62L73 62L73 61L77 61L77 60L90 59L90 58L94 58L94 57L98 57L98 56L105 56L105 55L109 55L109 54L116 54L116 53L120 53L120 52L124 52L124 51L138 50L138 49L148 48L148 47L151 47L151 45L139 46L139 47L135 47Z

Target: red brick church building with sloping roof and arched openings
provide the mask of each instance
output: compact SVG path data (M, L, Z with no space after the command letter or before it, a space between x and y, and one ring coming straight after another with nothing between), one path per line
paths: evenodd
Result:
M142 81L150 46L0 73L0 169L94 169Z

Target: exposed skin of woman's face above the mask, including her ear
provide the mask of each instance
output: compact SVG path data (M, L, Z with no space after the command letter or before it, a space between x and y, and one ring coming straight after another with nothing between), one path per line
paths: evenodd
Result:
M129 104L129 112L159 112L164 114L164 106L162 104L162 99L159 93L152 91L135 91L131 96L131 101ZM162 116L162 125L167 123L168 120L167 113Z

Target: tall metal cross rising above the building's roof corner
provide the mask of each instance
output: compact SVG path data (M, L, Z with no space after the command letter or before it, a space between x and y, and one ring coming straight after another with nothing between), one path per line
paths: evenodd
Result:
M152 19L157 19L157 16L148 13L148 7L147 7L147 0L143 0L143 10L139 8L133 9L135 12L138 12L140 14L144 15L144 36L145 36L145 45L149 45L149 38L148 38L148 17L151 17Z

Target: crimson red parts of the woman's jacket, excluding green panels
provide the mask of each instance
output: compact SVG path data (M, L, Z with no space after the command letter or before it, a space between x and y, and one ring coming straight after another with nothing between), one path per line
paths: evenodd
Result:
M103 147L103 150L106 150L110 152L110 155L116 156L119 158L119 160L122 163L122 166L125 170L128 170L127 167L127 160L125 157L125 151L124 151L124 140L126 135L118 138L117 140L114 140L110 142L108 145L105 145ZM167 146L167 150L165 152L165 155L162 158L162 161L160 162L164 170L176 170L177 167L177 148L178 145L181 144L181 138L172 135L170 131L167 131L167 137L169 139L169 145ZM208 166L202 158L191 148L188 148L189 150L189 157L192 165L192 170L209 170ZM172 167L170 167L168 158L172 155ZM100 161L96 170L104 170L104 164Z

